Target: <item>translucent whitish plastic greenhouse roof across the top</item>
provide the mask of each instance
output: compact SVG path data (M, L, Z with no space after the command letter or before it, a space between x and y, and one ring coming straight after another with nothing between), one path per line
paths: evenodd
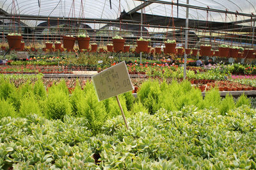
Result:
M162 0L161 2L170 3L167 0ZM141 5L143 3L145 5ZM45 22L45 20L36 21L36 16L118 20L121 12L124 13L122 19L137 21L136 23L138 24L141 9L145 13L143 15L144 23L156 26L172 26L174 24L177 27L184 27L186 7L179 4L186 4L186 0L173 0L173 3L178 5L133 0L0 0L0 8L2 14L13 15L15 13L17 15L34 16L34 19L22 20L24 24L31 27L36 27L38 24ZM239 13L248 13L248 15L255 13L256 15L255 0L190 0L189 5L237 12L237 15L232 15L189 8L191 27L193 27L193 24L196 24L197 27L204 27L207 24L210 26L212 24L211 26L216 26L216 28L230 28L234 25L231 24L232 22L237 22L240 25L235 27L252 26L251 19L255 17L253 15L252 17L243 16L239 15ZM169 21L172 17L175 20ZM88 23L88 26L98 29L99 27L106 26L106 24L95 25Z

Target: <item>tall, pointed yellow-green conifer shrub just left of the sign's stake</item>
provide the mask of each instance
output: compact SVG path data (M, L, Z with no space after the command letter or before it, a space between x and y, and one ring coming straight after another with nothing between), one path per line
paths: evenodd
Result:
M77 103L77 116L88 120L88 128L93 134L97 134L103 123L107 120L108 114L103 102L99 102L92 83L86 84L85 96L82 96Z

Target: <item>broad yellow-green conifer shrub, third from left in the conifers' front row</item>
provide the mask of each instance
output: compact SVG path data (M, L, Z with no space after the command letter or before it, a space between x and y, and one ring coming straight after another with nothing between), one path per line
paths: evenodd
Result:
M48 97L45 100L45 115L47 118L63 120L64 116L70 113L68 93L54 86L49 88Z

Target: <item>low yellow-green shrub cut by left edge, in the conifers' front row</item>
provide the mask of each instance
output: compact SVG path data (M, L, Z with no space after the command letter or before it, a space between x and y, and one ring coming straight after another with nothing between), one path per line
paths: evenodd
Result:
M0 99L0 119L6 116L15 117L16 116L15 109L10 102L4 99Z

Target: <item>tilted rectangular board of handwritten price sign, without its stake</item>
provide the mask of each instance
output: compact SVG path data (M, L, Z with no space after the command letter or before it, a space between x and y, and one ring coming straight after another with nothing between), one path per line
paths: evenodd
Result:
M99 100L115 97L133 89L125 61L92 77Z

